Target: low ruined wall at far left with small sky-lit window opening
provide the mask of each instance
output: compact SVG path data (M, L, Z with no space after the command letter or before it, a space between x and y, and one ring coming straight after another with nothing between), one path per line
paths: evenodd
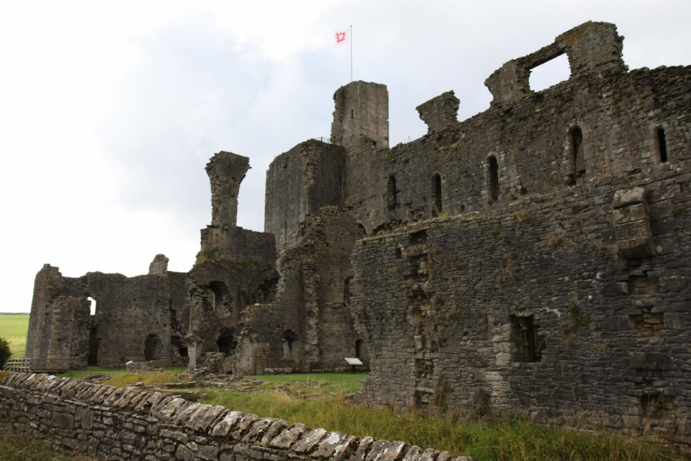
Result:
M180 340L189 321L180 303L186 274L158 272L131 278L89 272L77 279L44 265L35 279L25 350L32 369L122 366L129 360L186 364ZM93 314L89 297L96 303Z

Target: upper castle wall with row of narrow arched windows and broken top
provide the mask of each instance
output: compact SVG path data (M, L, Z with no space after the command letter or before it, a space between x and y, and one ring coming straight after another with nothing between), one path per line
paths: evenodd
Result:
M561 53L571 78L530 91L530 68ZM438 214L500 213L602 176L671 173L688 159L691 67L627 72L614 25L585 23L506 66L523 70L488 79L487 111L457 122L447 92L418 107L422 138L392 149L366 135L348 144L343 206L369 234Z

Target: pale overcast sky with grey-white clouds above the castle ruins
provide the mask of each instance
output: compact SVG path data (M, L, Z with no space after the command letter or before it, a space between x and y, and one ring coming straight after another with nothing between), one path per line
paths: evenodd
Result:
M45 263L65 276L187 272L211 221L214 153L249 157L238 225L263 231L265 171L330 135L333 93L389 92L390 144L426 133L415 107L444 91L459 120L483 82L585 21L616 23L630 69L691 64L691 1L64 1L0 6L0 312L28 312ZM531 75L568 78L565 59Z

